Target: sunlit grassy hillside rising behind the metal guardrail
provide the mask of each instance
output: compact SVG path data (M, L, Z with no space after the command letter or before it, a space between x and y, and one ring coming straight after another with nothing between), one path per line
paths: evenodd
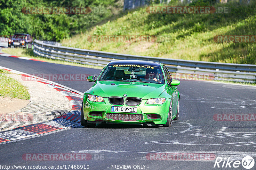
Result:
M247 6L230 2L217 4L215 8L219 6L228 6L229 12L149 14L146 8L140 8L64 39L62 45L174 59L256 64L256 43L216 43L213 40L216 35L255 35L255 4ZM90 43L87 40L90 35L168 35L171 40L158 43Z

